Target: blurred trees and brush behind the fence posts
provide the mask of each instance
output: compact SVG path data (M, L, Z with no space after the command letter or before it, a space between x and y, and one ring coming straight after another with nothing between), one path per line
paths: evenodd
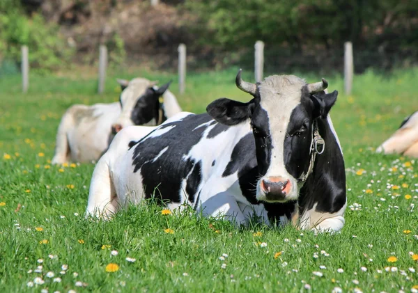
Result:
M265 42L266 71L341 70L343 42L355 69L410 67L418 59L418 6L408 0L1 0L0 74L20 65L56 70L97 61L107 45L111 64L175 68L187 45L192 69L253 62Z

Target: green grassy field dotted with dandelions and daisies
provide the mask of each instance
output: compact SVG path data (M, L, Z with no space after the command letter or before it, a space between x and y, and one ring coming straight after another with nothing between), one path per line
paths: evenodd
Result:
M187 93L178 95L183 109L203 112L218 97L247 100L233 83L236 72L190 74ZM343 95L341 77L325 77L340 92L331 114L348 180L346 225L336 235L257 223L237 229L190 212L162 215L154 205L131 207L106 223L84 220L94 166L50 165L60 118L74 103L118 100L114 77L138 74L173 79L178 93L176 76L155 72L111 74L103 95L95 93L89 70L31 76L26 94L19 77L0 78L2 292L418 288L418 160L373 152L418 109L417 69L356 76L350 96ZM244 77L251 80L251 72Z

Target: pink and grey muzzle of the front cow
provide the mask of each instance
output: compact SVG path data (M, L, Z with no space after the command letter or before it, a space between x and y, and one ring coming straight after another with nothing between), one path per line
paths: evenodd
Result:
M267 177L260 182L261 191L267 201L284 201L291 192L291 180L284 177Z

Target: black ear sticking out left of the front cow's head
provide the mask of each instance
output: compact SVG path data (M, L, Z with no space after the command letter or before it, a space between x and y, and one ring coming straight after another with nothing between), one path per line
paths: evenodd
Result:
M251 117L254 109L254 99L242 103L223 97L211 102L207 107L209 115L224 125L237 125Z

